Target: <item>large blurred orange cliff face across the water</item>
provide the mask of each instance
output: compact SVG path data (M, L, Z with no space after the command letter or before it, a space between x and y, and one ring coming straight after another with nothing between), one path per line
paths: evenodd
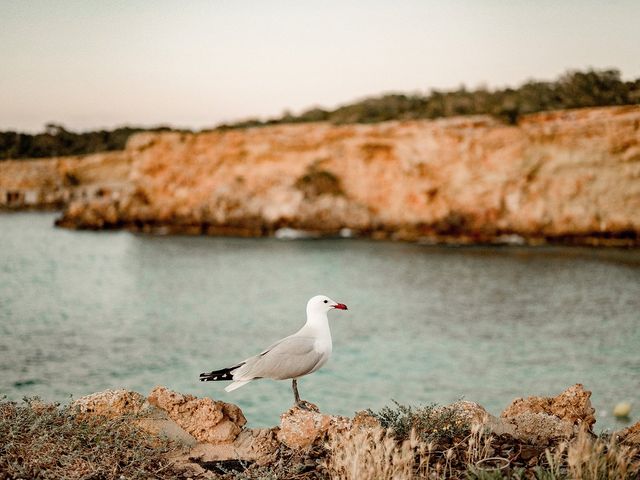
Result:
M113 154L111 154L113 155ZM373 125L143 133L116 196L60 224L212 234L350 228L399 239L640 238L640 107ZM95 161L95 160L94 160Z

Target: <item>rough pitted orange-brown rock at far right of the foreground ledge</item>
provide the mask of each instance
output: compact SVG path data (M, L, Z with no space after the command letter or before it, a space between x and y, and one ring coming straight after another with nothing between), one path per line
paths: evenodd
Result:
M556 397L517 398L500 417L513 427L513 437L536 445L547 444L556 438L571 437L580 429L591 431L596 419L590 396L590 391L576 384Z

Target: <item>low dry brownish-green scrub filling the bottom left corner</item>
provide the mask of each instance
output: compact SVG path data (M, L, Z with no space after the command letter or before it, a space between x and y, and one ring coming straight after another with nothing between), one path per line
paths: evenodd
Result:
M0 478L175 478L168 442L129 418L81 418L70 407L0 401Z

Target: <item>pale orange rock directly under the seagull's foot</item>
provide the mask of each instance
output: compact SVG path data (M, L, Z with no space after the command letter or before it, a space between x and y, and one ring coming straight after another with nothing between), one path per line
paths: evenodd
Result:
M277 437L291 449L307 449L325 435L344 433L353 425L347 417L322 414L316 405L306 405L307 408L294 406L280 416Z

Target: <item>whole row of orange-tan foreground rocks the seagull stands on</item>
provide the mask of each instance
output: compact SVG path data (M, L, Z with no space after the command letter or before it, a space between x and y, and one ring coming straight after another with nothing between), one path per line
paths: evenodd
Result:
M220 478L218 475L225 468L282 468L283 463L295 461L299 464L296 468L301 469L299 473L319 472L317 478L324 478L327 468L333 468L335 473L345 461L359 461L357 453L345 454L344 445L353 446L354 441L356 450L366 445L368 455L376 448L391 448L394 455L401 449L417 455L420 448L428 448L429 458L433 454L431 460L437 459L439 452L442 459L452 463L455 452L460 450L466 463L474 460L475 465L480 465L498 458L512 466L534 468L547 461L545 452L550 449L555 448L556 452L567 448L568 442L584 442L580 439L585 435L595 437L590 396L591 392L576 384L556 397L516 399L499 417L477 403L460 401L430 411L431 419L435 419L431 423L425 424L424 418L421 425L418 420L412 421L413 431L407 440L410 443L398 444L390 440L392 429L385 432L380 415L368 411L353 418L335 416L320 412L312 404L292 407L281 415L279 426L263 429L248 428L235 405L183 395L165 387L154 388L146 398L136 392L107 390L80 398L73 406L80 416L130 416L148 434L174 441L175 448L168 454L172 468L185 476ZM416 430L420 430L421 438L432 439L428 445L423 444L426 447L418 447ZM640 424L635 424L614 434L615 441L626 442L623 452L631 455L629 458L638 455L638 431ZM377 460L366 460L370 461ZM389 458L391 463L396 461L397 458ZM315 475L309 473L301 478L316 478Z

